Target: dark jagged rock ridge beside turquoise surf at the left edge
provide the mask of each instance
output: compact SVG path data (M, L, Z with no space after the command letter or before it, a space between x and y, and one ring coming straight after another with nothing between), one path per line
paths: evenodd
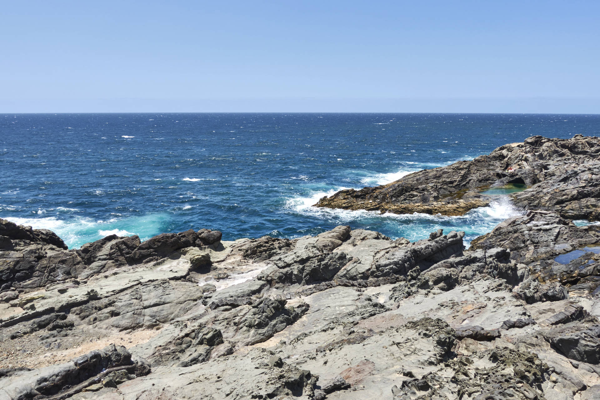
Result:
M145 242L139 237L110 235L80 249L67 249L55 233L32 229L0 219L0 290L35 289L69 279L90 276L118 267L160 260L188 247L215 246L220 231L202 229L163 233Z

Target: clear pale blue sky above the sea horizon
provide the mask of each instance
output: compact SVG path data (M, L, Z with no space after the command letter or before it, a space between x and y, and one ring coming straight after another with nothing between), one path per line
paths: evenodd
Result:
M600 113L600 1L12 1L0 113Z

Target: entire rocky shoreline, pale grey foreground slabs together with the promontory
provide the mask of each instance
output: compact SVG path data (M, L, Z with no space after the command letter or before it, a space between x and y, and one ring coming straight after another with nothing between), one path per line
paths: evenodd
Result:
M468 249L338 226L69 250L0 219L0 399L598 400L600 225L572 219L598 219L599 154L532 137L319 202L455 215L521 179L526 212Z

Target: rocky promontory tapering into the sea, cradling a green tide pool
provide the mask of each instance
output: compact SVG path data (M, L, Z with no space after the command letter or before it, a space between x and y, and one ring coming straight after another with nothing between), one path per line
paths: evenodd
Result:
M523 188L509 195L523 209L550 210L570 219L600 219L600 138L532 136L474 160L421 170L390 184L341 190L315 205L463 215L490 204L493 196L486 191L502 188Z

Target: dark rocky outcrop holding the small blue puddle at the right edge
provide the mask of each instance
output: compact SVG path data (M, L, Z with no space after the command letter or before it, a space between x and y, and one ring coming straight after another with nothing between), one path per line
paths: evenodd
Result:
M530 210L500 222L490 233L473 240L471 249L501 247L525 279L517 292L528 303L556 301L576 294L592 293L600 285L598 254L587 245L600 243L598 225L575 226L557 213ZM583 250L582 250L583 249Z

